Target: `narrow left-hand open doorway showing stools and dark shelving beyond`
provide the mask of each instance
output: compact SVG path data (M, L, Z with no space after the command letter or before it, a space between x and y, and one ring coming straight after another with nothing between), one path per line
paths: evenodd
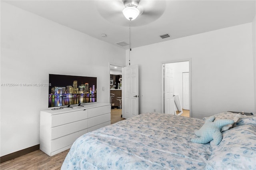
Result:
M111 124L122 118L122 66L110 64Z

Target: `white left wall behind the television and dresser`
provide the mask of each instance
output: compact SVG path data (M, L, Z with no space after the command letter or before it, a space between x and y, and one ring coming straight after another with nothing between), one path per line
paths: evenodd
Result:
M48 83L48 74L98 77L97 101L108 102L109 62L125 50L1 2L1 84ZM102 91L105 87L105 91ZM39 144L48 87L1 87L0 156Z

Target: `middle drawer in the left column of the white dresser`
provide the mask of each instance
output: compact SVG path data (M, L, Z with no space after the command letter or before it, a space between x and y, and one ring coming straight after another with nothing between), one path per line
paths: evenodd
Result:
M86 129L88 127L88 120L84 119L81 121L76 121L72 123L68 123L65 125L57 126L52 128L52 138L56 139L61 136L65 136L67 134L71 134L73 132L77 132L79 130Z

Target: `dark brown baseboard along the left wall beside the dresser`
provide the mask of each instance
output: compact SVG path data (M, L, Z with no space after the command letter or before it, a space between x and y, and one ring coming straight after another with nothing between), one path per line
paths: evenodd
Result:
M26 149L22 149L22 150L19 150L17 152L13 152L11 154L7 154L7 155L4 155L4 156L1 156L0 157L0 163L3 163L3 162L6 162L8 160L12 160L14 158L17 158L19 156L22 156L22 155L25 155L25 154L28 154L30 152L34 152L36 150L39 150L40 146L39 144L35 145L35 146L31 146L29 148L26 148Z

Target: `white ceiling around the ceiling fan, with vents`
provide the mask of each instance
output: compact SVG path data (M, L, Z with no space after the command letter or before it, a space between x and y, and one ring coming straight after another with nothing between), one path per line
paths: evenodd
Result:
M129 43L122 0L1 1L118 47ZM141 0L138 7L144 11L130 23L132 48L252 22L256 0ZM171 37L159 37L165 33Z

